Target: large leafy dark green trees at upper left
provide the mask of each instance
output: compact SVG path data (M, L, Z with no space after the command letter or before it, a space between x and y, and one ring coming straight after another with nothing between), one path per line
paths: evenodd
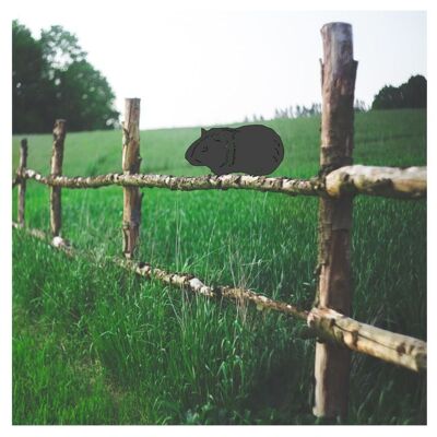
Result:
M15 21L12 42L14 133L50 131L56 118L72 131L118 127L115 94L75 35L51 26L36 40Z

